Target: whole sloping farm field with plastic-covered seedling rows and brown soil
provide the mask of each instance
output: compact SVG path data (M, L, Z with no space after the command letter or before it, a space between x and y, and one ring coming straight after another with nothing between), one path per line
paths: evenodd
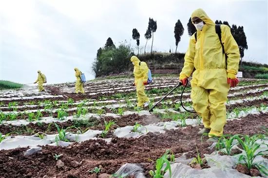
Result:
M182 108L182 87L150 113L135 106L132 82L89 81L80 95L75 83L0 91L0 178L268 177L268 80L231 88L217 144L197 135L202 120ZM178 82L154 78L150 107ZM182 97L188 109L190 92ZM171 169L157 172L161 161Z

